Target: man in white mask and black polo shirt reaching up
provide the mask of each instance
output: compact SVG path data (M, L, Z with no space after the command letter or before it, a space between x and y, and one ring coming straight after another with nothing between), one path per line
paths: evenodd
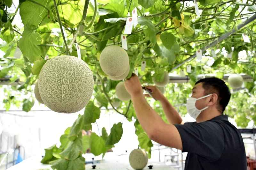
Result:
M148 105L136 75L125 82L137 118L148 137L159 144L188 152L185 170L246 170L244 142L239 131L223 115L230 92L219 78L196 82L187 101L196 122L183 123L179 113L155 86L148 86L170 122L165 123Z

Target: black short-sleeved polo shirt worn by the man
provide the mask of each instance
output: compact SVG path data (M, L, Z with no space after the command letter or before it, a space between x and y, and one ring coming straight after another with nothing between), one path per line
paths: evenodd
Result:
M246 170L244 142L227 115L206 122L175 124L188 152L185 170Z

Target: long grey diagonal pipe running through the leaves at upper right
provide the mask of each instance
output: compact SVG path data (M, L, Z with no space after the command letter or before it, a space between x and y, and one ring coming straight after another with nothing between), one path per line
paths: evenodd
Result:
M241 29L242 27L246 26L247 24L249 24L250 22L254 21L256 19L256 14L251 16L250 18L248 18L246 21L244 21L242 24L238 25L237 28L233 29L232 31L225 33L223 35L220 36L220 38L218 38L218 40L213 41L210 45L202 48L202 53L204 53L206 51L206 49L211 48L213 46L215 46L216 44L218 44L219 42L221 42L222 40L226 39L227 37L229 37L231 34L235 33L237 30ZM184 60L182 63L178 64L177 66L173 67L171 71L179 68L181 65L185 64L186 62L191 61L192 59L194 59L196 57L196 54L190 56L189 58L187 58L186 60Z

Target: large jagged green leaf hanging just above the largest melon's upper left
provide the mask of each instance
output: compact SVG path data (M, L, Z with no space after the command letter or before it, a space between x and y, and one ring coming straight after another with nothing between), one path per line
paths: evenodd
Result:
M29 59L30 63L42 59L40 57L41 51L38 48L39 44L41 44L40 34L34 33L33 29L25 26L19 42L19 47L22 54Z

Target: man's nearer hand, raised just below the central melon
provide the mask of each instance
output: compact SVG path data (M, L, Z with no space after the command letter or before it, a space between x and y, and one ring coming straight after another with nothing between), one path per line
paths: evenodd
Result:
M124 82L124 86L127 90L127 92L131 95L131 96L135 96L137 94L142 94L143 95L143 90L140 84L140 80L138 78L138 76L136 76L135 74L132 73L132 77L127 79Z

